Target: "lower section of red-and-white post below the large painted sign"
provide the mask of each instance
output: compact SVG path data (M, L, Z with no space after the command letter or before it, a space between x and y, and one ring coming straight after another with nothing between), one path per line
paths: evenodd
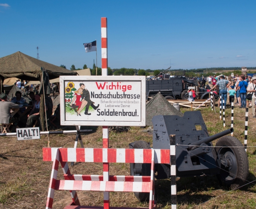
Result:
M102 20L102 18L101 18ZM108 126L103 126L103 153L104 156L107 156L107 148L108 148ZM106 149L104 149L106 148ZM105 162L104 162L105 161ZM108 159L103 160L103 181L109 181L109 163ZM109 192L103 192L104 195L104 209L110 208L110 201L109 201Z

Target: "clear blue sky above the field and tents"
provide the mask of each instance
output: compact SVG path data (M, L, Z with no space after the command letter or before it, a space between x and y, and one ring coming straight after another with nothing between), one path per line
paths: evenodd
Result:
M92 68L108 20L111 68L256 66L256 1L0 0L0 57L20 51L69 69Z

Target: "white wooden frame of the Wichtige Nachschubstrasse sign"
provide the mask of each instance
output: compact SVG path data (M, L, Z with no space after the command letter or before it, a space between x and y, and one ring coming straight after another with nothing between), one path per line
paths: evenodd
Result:
M140 121L115 121L115 118L110 116L109 120L105 121L90 121L81 120L84 117L84 113L81 112L81 116L78 116L80 120L67 120L66 116L66 103L65 103L65 83L67 82L136 82L136 85L141 87L141 92L136 91L137 94L140 93L140 108L141 117L138 118ZM140 82L140 84L138 84ZM79 86L78 86L79 87ZM116 92L117 90L115 90ZM119 90L121 91L121 90ZM134 92L135 90L133 90ZM97 104L96 104L97 105ZM103 104L101 104L103 106ZM61 125L96 125L96 126L145 126L146 125L146 77L145 76L60 76L60 124ZM138 120L137 119L137 120Z

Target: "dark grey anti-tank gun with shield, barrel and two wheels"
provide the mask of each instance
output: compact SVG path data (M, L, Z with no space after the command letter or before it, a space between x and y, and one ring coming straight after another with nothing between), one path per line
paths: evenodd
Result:
M232 189L242 186L249 173L248 157L235 137L227 136L233 129L209 136L200 111L187 111L183 117L158 115L152 118L153 148L170 147L170 136L175 135L176 175L178 177L217 175L221 184ZM219 139L214 147L213 140ZM130 148L150 148L145 141L135 141ZM171 176L170 164L156 164L157 179ZM150 176L150 165L131 163L131 175ZM148 193L135 193L145 201Z

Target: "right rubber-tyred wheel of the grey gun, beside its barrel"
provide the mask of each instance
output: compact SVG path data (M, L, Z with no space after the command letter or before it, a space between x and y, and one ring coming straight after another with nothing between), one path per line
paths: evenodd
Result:
M218 175L220 183L231 189L244 185L249 173L249 162L241 142L235 137L221 137L215 150L221 160Z

